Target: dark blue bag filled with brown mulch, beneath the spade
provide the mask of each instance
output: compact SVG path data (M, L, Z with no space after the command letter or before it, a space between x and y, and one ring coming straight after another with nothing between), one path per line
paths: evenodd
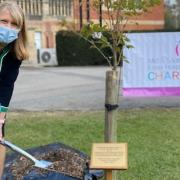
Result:
M3 180L8 178L24 180L28 179L27 177L33 179L33 176L36 177L34 179L48 179L49 174L63 175L64 180L68 177L69 180L81 180L84 177L86 164L89 162L86 154L61 143L34 148L28 152L39 160L53 162L53 165L48 167L50 170L34 167L29 159L13 153L6 158Z

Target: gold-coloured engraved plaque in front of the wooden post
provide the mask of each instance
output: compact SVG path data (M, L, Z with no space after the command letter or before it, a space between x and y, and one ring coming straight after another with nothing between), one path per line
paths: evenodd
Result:
M124 170L128 168L127 143L94 143L90 168Z

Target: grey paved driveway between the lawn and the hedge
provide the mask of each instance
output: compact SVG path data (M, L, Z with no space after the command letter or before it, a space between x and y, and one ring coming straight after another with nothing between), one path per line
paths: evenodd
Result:
M99 110L104 108L108 67L20 69L11 110ZM180 107L180 97L120 98L120 108Z

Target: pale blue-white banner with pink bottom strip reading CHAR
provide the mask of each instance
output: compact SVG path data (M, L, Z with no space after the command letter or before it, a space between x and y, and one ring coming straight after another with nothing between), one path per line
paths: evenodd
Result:
M134 48L124 50L129 61L123 67L124 95L133 95L133 88L136 89L134 93L139 89L139 95L146 95L147 90L153 88L163 91L158 95L166 95L164 88L170 88L173 95L172 88L180 87L180 32L130 33L127 36Z

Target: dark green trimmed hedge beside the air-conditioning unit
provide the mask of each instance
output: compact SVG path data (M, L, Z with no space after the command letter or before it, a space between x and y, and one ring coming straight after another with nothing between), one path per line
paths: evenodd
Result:
M56 50L59 66L107 64L96 49L73 31L59 31L56 34Z

